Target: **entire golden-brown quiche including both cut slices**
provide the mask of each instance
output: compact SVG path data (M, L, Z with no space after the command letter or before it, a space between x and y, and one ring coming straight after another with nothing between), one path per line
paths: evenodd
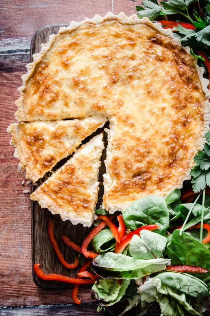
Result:
M37 181L75 152L31 194L41 206L91 225L102 137L77 148L106 121L103 208L110 213L190 179L209 126L208 81L171 30L124 13L72 21L42 44L27 70L19 123L8 128L26 177Z

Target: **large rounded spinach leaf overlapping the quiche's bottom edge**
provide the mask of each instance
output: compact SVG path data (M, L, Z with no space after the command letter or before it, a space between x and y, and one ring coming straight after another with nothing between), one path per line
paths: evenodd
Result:
M169 226L169 213L162 197L147 196L134 201L122 211L125 225L135 230L141 226L156 224L156 232L164 235Z

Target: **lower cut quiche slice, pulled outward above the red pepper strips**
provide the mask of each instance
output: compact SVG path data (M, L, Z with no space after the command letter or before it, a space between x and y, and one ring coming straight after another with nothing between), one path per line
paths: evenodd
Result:
M98 197L103 135L82 145L52 177L31 194L42 208L60 214L63 221L91 226Z

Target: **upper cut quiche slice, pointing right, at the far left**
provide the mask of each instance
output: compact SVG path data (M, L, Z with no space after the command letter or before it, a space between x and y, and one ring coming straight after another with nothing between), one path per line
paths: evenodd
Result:
M14 156L26 170L26 178L36 182L51 171L58 161L71 155L85 137L102 127L106 118L92 116L86 119L32 123L14 123L7 131L12 134Z

